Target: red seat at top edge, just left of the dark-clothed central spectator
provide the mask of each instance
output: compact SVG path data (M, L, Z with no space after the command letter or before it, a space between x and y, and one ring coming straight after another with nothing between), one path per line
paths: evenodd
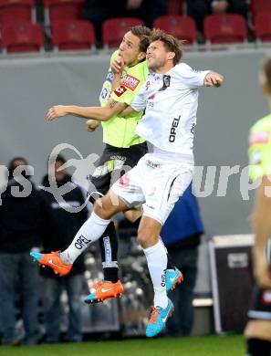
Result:
M44 0L46 26L58 20L80 19L83 5L84 0Z

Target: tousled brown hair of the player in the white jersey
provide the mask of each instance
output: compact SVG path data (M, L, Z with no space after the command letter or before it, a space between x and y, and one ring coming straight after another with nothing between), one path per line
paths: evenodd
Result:
M166 34L159 28L154 28L151 31L150 43L154 41L162 41L168 52L175 53L175 57L173 58L174 66L180 62L182 58L182 41L172 35Z

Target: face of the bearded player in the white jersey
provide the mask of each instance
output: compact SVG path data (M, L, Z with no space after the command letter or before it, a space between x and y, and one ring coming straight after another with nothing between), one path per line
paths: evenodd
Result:
M153 71L159 71L163 68L168 59L169 53L164 47L162 41L151 42L151 45L147 49L147 64L148 68Z

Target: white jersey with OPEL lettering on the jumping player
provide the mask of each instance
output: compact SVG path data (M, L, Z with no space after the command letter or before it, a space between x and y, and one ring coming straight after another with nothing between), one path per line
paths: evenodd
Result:
M163 151L193 155L198 89L208 73L185 63L164 74L151 73L130 105L146 109L136 133Z

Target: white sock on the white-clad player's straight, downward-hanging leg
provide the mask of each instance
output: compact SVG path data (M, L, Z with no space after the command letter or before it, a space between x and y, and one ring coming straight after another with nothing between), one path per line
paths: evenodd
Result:
M166 308L168 297L165 283L165 269L167 267L168 257L161 241L154 246L143 248L147 258L147 263L151 275L151 282L154 289L154 307Z

